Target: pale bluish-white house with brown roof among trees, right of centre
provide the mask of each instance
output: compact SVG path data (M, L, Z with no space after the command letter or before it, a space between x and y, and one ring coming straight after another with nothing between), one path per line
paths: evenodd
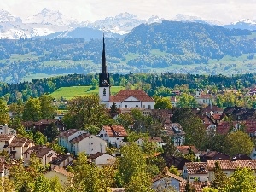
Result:
M185 132L178 123L165 124L165 134L171 137L174 146L180 146L185 143Z

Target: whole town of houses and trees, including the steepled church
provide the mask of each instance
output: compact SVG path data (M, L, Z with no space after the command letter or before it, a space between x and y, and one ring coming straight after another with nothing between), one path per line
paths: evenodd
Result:
M202 89L188 95L192 102L181 90L111 95L107 69L103 37L98 95L65 100L64 113L46 94L25 103L0 100L3 191L255 189L254 108L219 108L220 98ZM229 91L239 94L219 94Z

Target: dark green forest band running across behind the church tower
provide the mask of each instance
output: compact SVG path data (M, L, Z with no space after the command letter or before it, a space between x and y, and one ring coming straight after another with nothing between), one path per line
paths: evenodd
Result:
M234 88L241 90L255 85L255 73L232 76L224 75L194 75L176 73L130 73L111 74L111 85L125 86L127 89L143 89L150 96L171 96L172 90L179 86L185 89L206 89L207 86L215 87L215 90ZM97 74L70 74L45 79L35 79L32 82L20 82L17 84L0 84L0 97L8 103L18 100L26 102L30 97L38 97L44 93L52 93L61 87L79 85L98 85Z

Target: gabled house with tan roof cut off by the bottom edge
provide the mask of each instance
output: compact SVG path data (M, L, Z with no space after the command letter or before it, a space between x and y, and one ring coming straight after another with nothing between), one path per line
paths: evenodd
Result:
M180 183L186 182L182 177L172 174L171 172L162 172L155 176L152 180L152 189L158 191L164 191L168 187L172 187L177 191L180 191Z

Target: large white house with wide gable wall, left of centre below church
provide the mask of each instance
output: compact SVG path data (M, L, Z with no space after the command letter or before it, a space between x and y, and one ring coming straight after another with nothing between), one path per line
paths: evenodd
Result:
M68 141L71 148L67 148L70 153L78 155L79 153L96 154L97 152L106 153L107 142L100 137L83 133Z

